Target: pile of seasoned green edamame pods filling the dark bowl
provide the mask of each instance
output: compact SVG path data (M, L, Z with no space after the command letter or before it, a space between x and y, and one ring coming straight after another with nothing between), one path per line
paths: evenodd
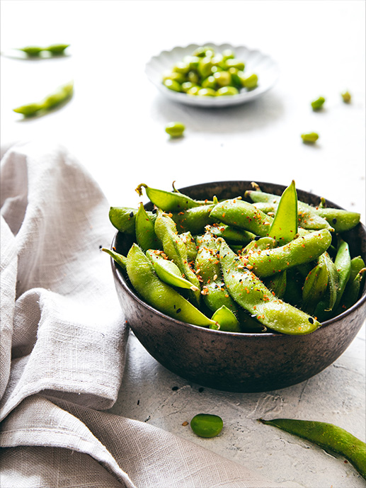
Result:
M170 317L221 331L309 334L358 300L365 262L343 239L357 212L299 201L294 181L280 196L252 183L222 201L195 200L174 184L136 190L154 210L111 207L110 222L134 243L127 256L103 251Z

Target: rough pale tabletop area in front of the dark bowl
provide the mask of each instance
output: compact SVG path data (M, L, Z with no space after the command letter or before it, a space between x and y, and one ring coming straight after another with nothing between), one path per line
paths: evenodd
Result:
M110 412L146 421L260 472L284 488L362 488L343 458L257 419L288 417L343 427L365 441L365 325L341 358L313 378L265 393L219 392L188 383L159 365L130 334L125 376ZM183 426L195 414L222 416L216 438Z

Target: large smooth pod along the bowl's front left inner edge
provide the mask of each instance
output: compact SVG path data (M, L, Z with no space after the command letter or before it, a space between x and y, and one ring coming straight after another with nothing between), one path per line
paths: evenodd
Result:
M176 290L161 281L149 258L137 244L132 244L127 254L127 275L137 293L156 310L188 324L202 327L215 324Z

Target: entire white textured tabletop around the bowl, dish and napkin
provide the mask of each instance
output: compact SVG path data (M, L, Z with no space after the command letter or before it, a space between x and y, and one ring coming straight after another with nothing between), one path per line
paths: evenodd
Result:
M161 50L191 42L230 42L280 64L262 98L235 108L198 109L164 99L144 65ZM364 1L1 1L1 51L71 44L49 60L1 57L1 143L52 140L72 151L110 205L137 206L138 183L170 189L204 181L273 181L313 191L365 222ZM12 108L38 101L74 79L72 100L22 120ZM353 103L346 105L341 91ZM314 113L310 102L326 98ZM170 140L164 127L186 125ZM314 146L302 132L319 132ZM108 216L106 216L108 218ZM342 460L270 428L263 413L330 421L365 439L365 333L334 365L302 385L268 394L226 394L187 384L158 365L132 336L123 397L113 412L190 438L253 467L282 486L362 487ZM173 392L171 387L179 390ZM137 401L139 405L137 407ZM219 409L222 434L196 438L183 428L202 409ZM270 430L270 431L269 431Z

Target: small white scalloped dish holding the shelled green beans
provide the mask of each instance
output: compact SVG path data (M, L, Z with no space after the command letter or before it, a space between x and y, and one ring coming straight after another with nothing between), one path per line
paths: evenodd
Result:
M215 42L205 42L205 45L213 47L217 53L227 49L233 50L236 58L245 62L244 72L248 75L252 73L258 75L258 86L251 91L242 89L237 95L232 96L192 96L166 88L162 83L164 72L182 61L183 57L192 55L193 51L200 47L198 44L190 44L185 47L176 46L170 51L162 51L159 55L151 57L145 67L147 77L166 98L201 107L223 107L252 101L271 89L278 80L280 72L277 62L261 51L251 50L246 46L215 44Z

